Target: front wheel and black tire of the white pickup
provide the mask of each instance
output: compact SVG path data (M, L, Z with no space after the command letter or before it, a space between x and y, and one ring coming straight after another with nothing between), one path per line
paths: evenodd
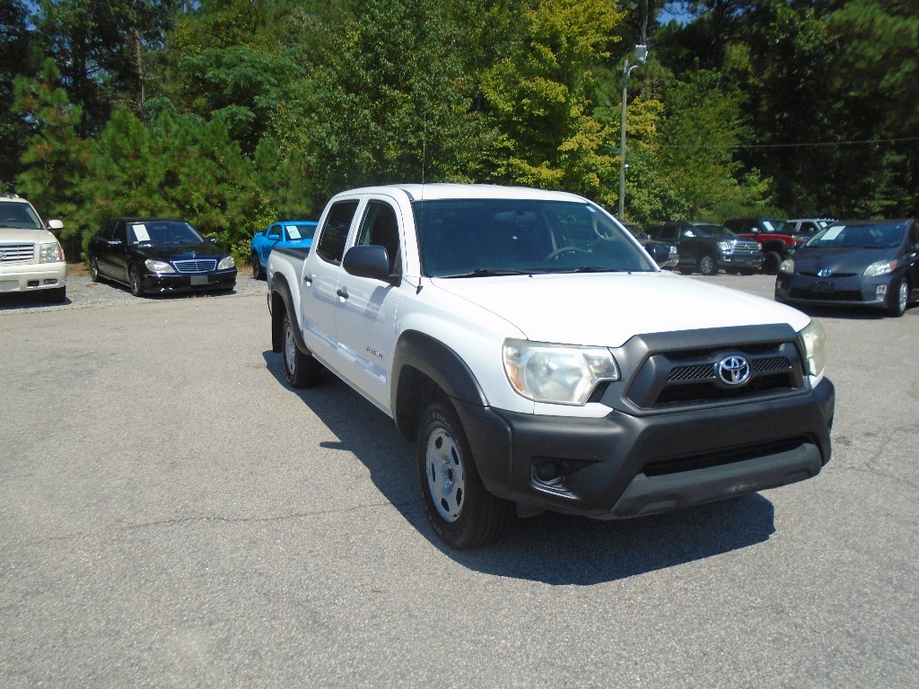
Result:
M417 460L422 503L437 537L457 549L480 548L501 537L511 503L485 490L448 401L434 401L425 410Z

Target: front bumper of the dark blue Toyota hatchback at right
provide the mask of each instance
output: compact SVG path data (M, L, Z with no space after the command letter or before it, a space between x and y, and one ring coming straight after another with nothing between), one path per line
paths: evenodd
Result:
M776 299L814 306L871 306L885 308L890 303L895 276L816 277L779 273Z

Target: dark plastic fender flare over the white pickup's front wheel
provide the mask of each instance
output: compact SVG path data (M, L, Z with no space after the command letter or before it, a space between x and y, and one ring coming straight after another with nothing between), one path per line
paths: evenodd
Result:
M427 405L445 396L487 405L471 368L447 344L418 331L406 331L392 360L391 410L399 433L414 440Z

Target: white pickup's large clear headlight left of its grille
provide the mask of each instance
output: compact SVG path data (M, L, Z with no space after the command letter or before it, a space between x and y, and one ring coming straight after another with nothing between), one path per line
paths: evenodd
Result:
M601 380L618 380L619 369L604 347L574 347L505 340L505 374L528 400L584 404Z

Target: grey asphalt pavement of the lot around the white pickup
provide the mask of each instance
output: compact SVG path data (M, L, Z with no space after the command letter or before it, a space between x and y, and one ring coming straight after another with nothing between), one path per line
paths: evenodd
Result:
M917 686L919 307L814 314L817 478L456 552L388 417L285 385L265 294L0 299L0 686Z

